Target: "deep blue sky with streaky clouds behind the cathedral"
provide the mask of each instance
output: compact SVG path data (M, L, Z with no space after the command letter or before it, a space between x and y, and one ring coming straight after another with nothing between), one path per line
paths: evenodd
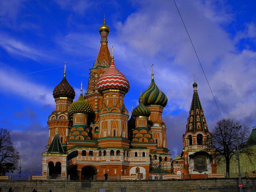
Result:
M255 1L176 0L223 118L256 125ZM128 111L155 82L167 95L163 120L172 157L183 148L194 74L210 130L221 116L174 1L0 1L0 123L20 151L23 170L40 170L48 139L52 90L63 78L87 88L99 47L98 28L110 28L115 65L130 81ZM23 172L25 173L25 171ZM40 174L40 172L39 172Z

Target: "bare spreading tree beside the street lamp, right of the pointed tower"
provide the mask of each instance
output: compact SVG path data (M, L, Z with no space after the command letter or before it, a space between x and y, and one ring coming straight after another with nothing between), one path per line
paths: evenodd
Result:
M240 126L239 122L234 119L223 119L217 122L212 133L212 145L216 150L216 159L219 162L224 159L226 162L226 172L230 171L230 159L235 154L234 150L237 146L239 153L245 153L249 158L255 152L247 147L249 138L249 127Z

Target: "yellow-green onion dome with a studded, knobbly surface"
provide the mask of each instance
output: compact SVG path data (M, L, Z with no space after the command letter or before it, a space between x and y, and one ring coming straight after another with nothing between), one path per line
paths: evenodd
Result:
M84 98L83 98L83 94L81 91L80 97L78 98L78 100L74 103L72 103L69 107L69 113L73 114L73 113L86 113L86 114L90 114L93 112L93 107L91 104L87 103Z

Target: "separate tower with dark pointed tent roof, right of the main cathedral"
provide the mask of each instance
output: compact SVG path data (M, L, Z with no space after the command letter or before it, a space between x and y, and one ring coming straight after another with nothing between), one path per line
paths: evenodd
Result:
M204 111L197 92L197 83L193 83L193 98L187 118L186 133L183 135L182 159L184 174L216 173L215 151L211 149L211 133L208 130ZM213 160L210 161L210 159ZM175 163L174 163L175 164ZM188 167L188 168L187 168ZM192 171L190 171L190 168ZM174 173L177 171L174 170ZM192 177L193 178L193 177Z

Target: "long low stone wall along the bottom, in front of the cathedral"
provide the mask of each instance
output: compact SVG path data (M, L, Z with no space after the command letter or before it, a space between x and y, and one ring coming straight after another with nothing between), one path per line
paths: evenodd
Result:
M256 191L256 179L242 179L243 192ZM239 192L238 179L141 181L0 181L0 192Z

